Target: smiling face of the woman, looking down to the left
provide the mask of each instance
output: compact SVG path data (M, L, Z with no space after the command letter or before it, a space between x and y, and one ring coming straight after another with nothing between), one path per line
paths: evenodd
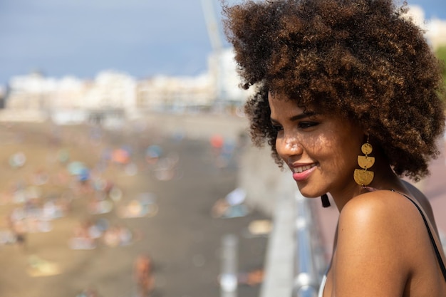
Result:
M315 110L299 108L281 95L268 95L271 123L277 130L276 150L290 167L305 197L325 193L347 194L358 185L358 167L364 132L353 123Z

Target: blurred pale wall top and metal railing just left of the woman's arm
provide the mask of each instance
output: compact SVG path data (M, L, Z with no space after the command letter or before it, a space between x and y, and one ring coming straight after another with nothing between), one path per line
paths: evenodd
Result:
M277 200L260 297L316 297L326 267L310 202L289 196Z

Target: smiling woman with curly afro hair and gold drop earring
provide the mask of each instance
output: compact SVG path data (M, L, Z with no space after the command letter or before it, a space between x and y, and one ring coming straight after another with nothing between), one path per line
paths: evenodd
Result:
M256 145L340 215L320 296L446 296L445 255L418 181L445 123L440 63L391 0L224 6Z

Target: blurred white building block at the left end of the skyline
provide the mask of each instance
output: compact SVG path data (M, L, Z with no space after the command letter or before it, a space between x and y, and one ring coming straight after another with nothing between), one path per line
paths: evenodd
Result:
M20 117L26 115L53 118L59 123L100 120L110 115L122 118L125 112L136 109L135 89L134 78L115 71L103 71L92 81L68 76L47 78L33 72L11 78L5 108L15 112L16 120L24 120Z

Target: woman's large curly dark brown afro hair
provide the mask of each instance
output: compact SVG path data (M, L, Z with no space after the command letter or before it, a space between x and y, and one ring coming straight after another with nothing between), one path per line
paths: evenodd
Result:
M406 16L406 3L276 0L222 6L242 86L256 88L244 108L251 138L255 145L271 145L277 164L283 165L268 92L360 123L399 176L418 180L429 173L445 125L442 64Z

